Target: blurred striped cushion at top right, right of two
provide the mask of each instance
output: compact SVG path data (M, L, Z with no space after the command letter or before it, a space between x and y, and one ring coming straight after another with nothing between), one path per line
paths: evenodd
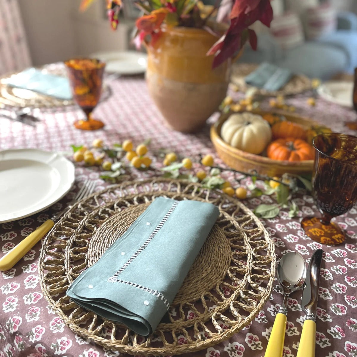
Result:
M307 9L306 37L309 40L335 31L336 26L336 11L329 3Z

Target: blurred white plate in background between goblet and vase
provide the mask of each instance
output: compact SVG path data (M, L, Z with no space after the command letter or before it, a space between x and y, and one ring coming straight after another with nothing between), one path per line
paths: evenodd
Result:
M145 73L147 55L137 51L96 52L92 58L106 62L105 71L123 75Z

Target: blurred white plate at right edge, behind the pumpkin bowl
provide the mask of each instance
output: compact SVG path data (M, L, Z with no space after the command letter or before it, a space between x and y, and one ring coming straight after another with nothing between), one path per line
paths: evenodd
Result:
M342 105L353 106L353 82L329 81L317 88L318 94L325 100Z

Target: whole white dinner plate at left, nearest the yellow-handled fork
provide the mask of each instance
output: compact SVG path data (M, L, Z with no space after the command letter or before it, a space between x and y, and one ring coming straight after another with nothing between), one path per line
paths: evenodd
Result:
M37 149L0 151L0 223L31 216L60 200L74 183L74 165Z

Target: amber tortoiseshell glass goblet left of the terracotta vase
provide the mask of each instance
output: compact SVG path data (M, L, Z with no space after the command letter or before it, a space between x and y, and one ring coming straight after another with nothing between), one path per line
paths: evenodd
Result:
M104 123L92 117L99 102L105 62L97 59L72 59L65 62L74 101L85 112L85 120L77 120L74 126L82 130L97 130Z

